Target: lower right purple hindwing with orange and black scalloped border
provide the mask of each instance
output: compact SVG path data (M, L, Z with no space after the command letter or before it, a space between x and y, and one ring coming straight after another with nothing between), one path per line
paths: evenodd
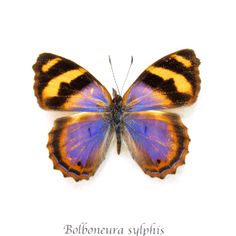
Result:
M123 138L134 160L151 177L175 173L185 161L189 137L178 115L160 111L125 116Z

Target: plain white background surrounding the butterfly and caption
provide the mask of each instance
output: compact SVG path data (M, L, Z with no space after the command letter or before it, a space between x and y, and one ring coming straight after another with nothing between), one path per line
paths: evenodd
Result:
M1 1L0 235L64 235L65 224L139 226L166 236L236 235L234 1ZM146 176L112 143L89 181L65 179L46 148L53 120L33 94L39 53L71 59L126 88L157 59L183 48L201 60L197 103L179 109L191 143L186 165L164 181Z

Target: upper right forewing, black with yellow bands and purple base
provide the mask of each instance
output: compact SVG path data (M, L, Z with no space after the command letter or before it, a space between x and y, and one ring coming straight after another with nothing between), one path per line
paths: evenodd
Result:
M198 66L193 50L169 54L149 66L123 98L127 111L145 111L190 105L200 89Z

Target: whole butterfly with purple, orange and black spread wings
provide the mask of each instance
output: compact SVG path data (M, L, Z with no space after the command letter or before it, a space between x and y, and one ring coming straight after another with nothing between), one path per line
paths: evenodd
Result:
M199 59L191 49L169 54L149 66L123 97L86 69L43 53L33 65L34 92L47 110L77 112L55 120L47 147L54 168L75 181L93 176L115 134L117 153L124 139L147 175L163 179L184 164L187 128L165 111L193 104L200 90Z

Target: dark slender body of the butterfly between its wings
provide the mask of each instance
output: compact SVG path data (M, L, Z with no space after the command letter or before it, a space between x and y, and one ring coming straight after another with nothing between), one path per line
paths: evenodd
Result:
M122 97L113 89L113 99L111 104L111 125L115 129L117 139L117 153L121 149L121 129L123 123Z

